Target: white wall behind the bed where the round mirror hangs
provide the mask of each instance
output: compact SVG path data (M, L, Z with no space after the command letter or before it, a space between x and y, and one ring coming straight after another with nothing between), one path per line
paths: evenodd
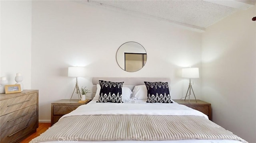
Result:
M138 72L126 72L116 62L118 48L128 41L147 52L147 63ZM200 68L200 61L201 33L96 5L32 2L32 88L40 91L40 120L50 120L51 102L70 98L75 86L75 78L67 77L70 66L86 67L87 76L78 83L88 89L93 76L170 77L171 96L179 99L189 82L180 78L181 67ZM194 83L200 99L200 79Z

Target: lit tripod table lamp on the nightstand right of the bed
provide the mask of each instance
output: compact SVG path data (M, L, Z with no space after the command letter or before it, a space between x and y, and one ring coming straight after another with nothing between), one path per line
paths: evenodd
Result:
M193 90L192 85L191 85L191 78L199 78L199 69L198 68L183 68L182 69L182 78L189 78L189 84L188 84L189 94L188 94L188 91L187 91L187 94L185 96L185 100L186 100L186 97L188 96L188 103L189 103L190 102L191 89L192 89L192 92L194 94L194 90ZM194 94L194 97L196 99L195 94ZM196 102L197 102L197 100L196 100Z

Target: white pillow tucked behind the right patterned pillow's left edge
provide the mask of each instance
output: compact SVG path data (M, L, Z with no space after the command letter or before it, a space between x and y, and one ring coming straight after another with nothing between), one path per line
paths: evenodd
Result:
M146 85L136 85L134 86L134 89L132 91L132 96L135 100L144 100L148 99L148 90L146 88Z

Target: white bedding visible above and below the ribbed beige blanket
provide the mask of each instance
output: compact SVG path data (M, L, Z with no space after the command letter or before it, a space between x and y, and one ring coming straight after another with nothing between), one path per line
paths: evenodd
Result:
M139 103L139 104L138 104ZM173 104L162 104L162 103L146 103L146 100L132 100L126 103L96 103L96 100L92 100L86 105L78 107L76 110L64 115L62 118L67 116L77 116L77 115L119 115L119 114L132 114L132 115L194 115L203 116L208 119L208 116L188 108L187 106L180 105L177 103ZM61 118L61 119L62 119ZM48 141L42 143L242 143L235 140L200 140L200 139L187 139L187 140L174 140L174 141L67 141L60 138L60 141Z

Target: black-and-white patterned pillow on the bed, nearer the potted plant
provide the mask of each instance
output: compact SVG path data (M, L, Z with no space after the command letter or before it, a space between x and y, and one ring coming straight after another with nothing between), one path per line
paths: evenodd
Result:
M122 87L124 82L111 82L99 80L100 96L97 102L122 102Z

